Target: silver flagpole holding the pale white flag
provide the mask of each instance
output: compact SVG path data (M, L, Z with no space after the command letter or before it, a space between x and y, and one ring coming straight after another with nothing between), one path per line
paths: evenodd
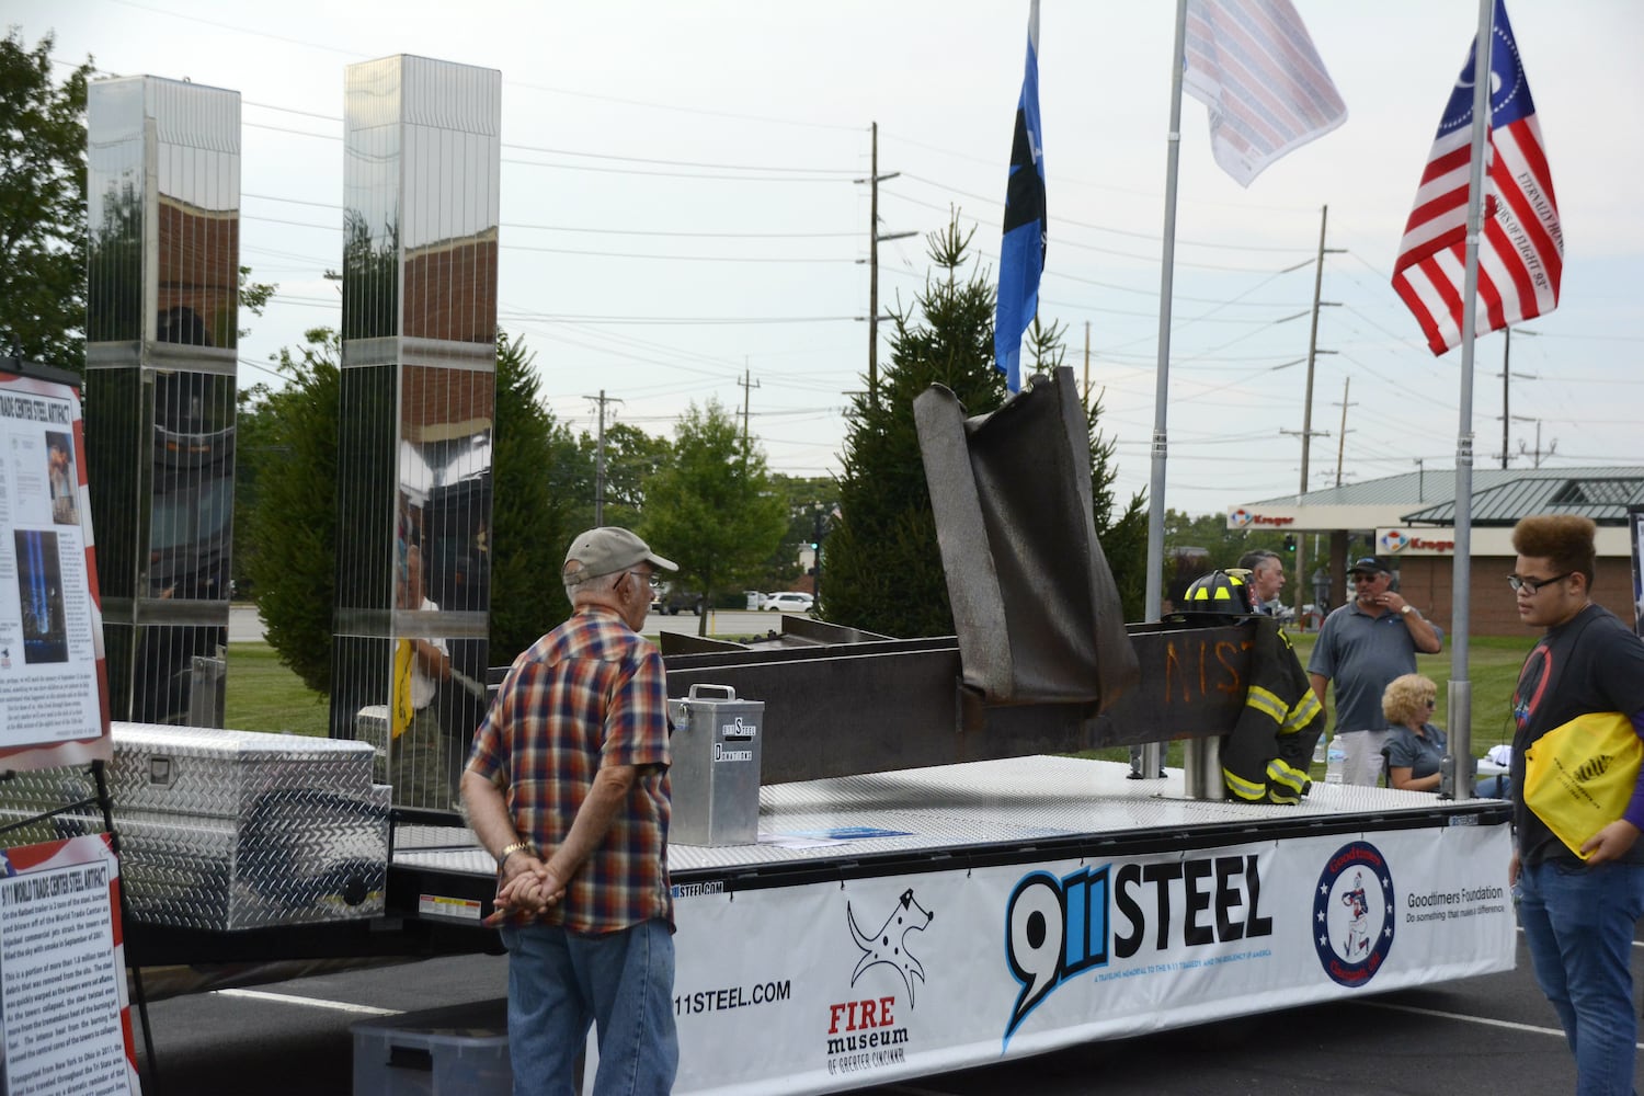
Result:
M1166 135L1167 159L1164 168L1164 256L1159 263L1159 370L1152 396L1152 485L1148 498L1146 613L1149 621L1157 621L1164 615L1164 460L1167 449L1164 424L1171 398L1171 281L1175 273L1175 171L1182 154L1182 62L1185 48L1187 0L1175 0L1175 49L1171 54L1171 130ZM1133 749L1131 777L1159 776L1162 759L1164 748L1159 743Z

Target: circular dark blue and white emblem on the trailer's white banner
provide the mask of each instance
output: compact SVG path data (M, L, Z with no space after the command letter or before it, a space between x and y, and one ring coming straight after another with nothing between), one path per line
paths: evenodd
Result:
M1314 950L1325 974L1342 986L1363 986L1392 950L1392 873L1369 841L1343 845L1314 891Z

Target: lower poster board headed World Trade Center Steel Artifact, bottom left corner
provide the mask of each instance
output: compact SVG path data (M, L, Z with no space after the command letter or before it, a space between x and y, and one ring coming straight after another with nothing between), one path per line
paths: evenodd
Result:
M0 851L0 1093L140 1093L107 835Z

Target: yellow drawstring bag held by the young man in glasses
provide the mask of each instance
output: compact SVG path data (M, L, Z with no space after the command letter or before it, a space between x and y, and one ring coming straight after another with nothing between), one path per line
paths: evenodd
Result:
M1524 805L1570 851L1621 817L1637 784L1644 741L1619 711L1590 711L1524 751Z

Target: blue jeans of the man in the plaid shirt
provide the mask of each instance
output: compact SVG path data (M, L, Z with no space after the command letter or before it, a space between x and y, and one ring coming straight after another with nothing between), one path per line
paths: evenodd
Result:
M503 925L508 1057L515 1096L572 1096L572 1070L598 1034L595 1096L661 1096L674 1086L674 937L658 919L598 937L559 925Z

